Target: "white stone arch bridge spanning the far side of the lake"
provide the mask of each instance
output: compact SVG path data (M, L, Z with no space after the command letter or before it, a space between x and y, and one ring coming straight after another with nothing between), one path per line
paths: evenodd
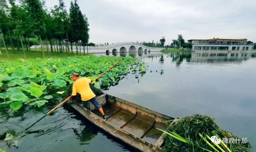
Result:
M88 53L150 52L150 51L161 51L162 49L164 48L147 47L139 43L124 42L124 43L114 43L110 45L104 45L100 47L88 47ZM74 48L73 48L73 51L74 51ZM83 51L82 47L81 47L81 51ZM85 48L85 51L87 52L86 48Z

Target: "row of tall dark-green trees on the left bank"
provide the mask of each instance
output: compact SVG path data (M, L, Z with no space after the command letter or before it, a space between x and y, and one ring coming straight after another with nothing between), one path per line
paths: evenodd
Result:
M73 53L74 47L78 52L78 47L88 45L89 40L88 19L77 0L71 1L69 13L63 0L50 9L44 0L0 0L0 32L6 50L16 47L24 55L35 42L41 44L44 56L42 42L48 52Z

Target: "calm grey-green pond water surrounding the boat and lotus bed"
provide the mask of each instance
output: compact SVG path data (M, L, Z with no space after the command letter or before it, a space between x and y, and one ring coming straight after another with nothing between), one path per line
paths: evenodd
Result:
M256 146L256 53L143 52L130 56L148 63L146 74L139 78L128 74L105 93L170 117L209 115L221 128L247 137ZM0 111L0 134L8 129L21 133L55 104L15 113ZM18 148L8 148L2 140L0 148L7 152L133 151L65 106L22 135Z

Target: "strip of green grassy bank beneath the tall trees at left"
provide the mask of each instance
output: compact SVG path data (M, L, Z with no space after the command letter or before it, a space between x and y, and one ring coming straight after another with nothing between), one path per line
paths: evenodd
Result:
M73 51L73 54L66 53L66 50L64 51L65 53L56 53L56 52L47 52L46 49L44 51L44 58L62 58L62 57L74 57L74 56L83 56L83 53L78 53L77 55L75 54L76 52ZM24 59L36 59L38 57L43 58L43 53L41 49L37 49L36 51L34 49L31 49L31 51L25 51L26 57L24 56L23 51L17 51L17 50L12 50L8 49L8 55L6 54L5 49L1 49L2 55L0 55L0 60L3 61L12 61L12 60L17 60L19 58L24 58ZM85 53L87 55L87 53Z

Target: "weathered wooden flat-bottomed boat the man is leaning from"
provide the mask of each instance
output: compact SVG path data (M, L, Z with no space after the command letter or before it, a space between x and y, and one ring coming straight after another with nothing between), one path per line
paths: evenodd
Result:
M107 120L102 119L91 102L88 102L90 110L78 102L71 102L70 106L107 133L140 151L164 151L160 148L164 134L156 128L165 130L174 118L111 95L103 94L97 98Z

